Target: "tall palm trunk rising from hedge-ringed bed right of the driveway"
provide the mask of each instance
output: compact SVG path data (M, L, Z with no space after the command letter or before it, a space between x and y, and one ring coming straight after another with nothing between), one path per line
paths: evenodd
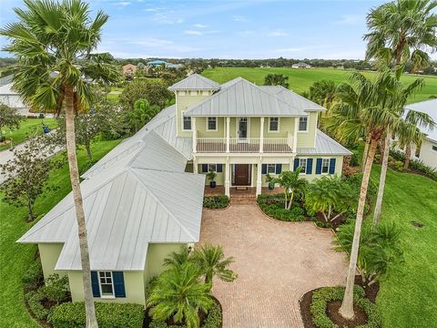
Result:
M367 188L369 186L369 179L371 177L371 165L375 157L378 140L371 138L371 145L366 159L366 166L361 181L360 201L358 203L357 219L355 220L355 231L353 233L353 243L351 249L351 260L349 261L348 279L346 281L346 291L344 292L343 302L340 307L340 314L346 318L351 319L355 315L353 313L353 284L355 282L355 271L357 267L358 250L360 247L361 223L362 215L364 213L364 205L366 203Z

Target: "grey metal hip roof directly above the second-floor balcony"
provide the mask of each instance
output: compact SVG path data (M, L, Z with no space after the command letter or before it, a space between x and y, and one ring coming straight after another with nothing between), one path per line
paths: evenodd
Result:
M300 117L308 116L300 108L270 94L248 80L237 77L219 92L187 109L193 117Z

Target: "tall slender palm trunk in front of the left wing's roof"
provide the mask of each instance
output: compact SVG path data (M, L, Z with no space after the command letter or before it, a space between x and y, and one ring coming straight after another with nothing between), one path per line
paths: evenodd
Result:
M77 169L76 138L75 138L75 106L73 87L66 86L66 153L70 169L71 188L75 200L77 231L79 236L80 261L84 283L86 328L97 328L96 310L91 290L91 269L89 264L88 241L86 238L85 212Z

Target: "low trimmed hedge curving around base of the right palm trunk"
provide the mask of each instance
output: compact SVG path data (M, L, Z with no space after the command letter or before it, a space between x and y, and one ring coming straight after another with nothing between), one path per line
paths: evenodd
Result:
M341 301L344 295L344 287L323 287L312 293L310 313L312 322L318 328L337 328L326 314L328 302ZM353 302L361 307L367 315L367 323L357 328L378 328L381 327L381 317L378 309L368 299L364 298L364 290L361 286L355 285L353 289Z

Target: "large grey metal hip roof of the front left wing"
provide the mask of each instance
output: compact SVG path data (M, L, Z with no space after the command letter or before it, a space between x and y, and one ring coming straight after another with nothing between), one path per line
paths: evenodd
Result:
M116 171L106 169L81 184L91 270L144 270L149 242L198 241L205 177L155 169ZM56 270L81 270L72 194L19 241L63 242Z

